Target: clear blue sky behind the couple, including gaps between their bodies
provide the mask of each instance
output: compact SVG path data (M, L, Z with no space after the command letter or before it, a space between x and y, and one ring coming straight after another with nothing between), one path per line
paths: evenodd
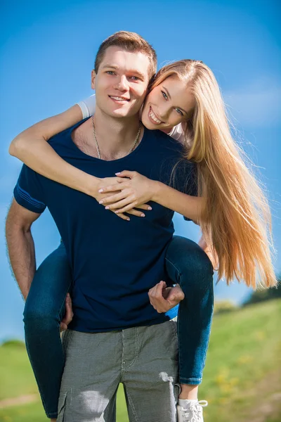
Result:
M4 3L4 4L3 4ZM214 71L235 124L235 136L266 185L275 248L281 247L281 55L279 1L1 2L0 221L21 164L8 155L13 137L34 122L91 95L98 46L117 30L138 32L166 60L196 58ZM279 10L278 10L279 9ZM176 233L197 240L197 226L175 217ZM3 231L2 231L3 233ZM34 224L37 262L59 241L48 212ZM22 338L23 302L0 240L0 340ZM281 255L275 259L280 273ZM216 298L240 302L249 290L216 286Z

